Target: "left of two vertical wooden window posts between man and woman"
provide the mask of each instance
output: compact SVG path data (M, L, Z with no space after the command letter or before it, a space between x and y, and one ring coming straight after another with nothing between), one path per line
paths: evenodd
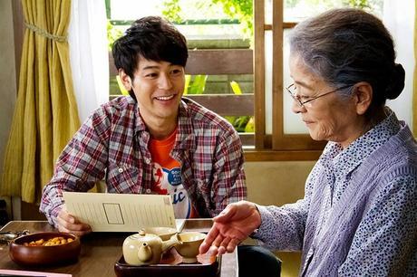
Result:
M265 148L265 0L254 1L255 148Z

